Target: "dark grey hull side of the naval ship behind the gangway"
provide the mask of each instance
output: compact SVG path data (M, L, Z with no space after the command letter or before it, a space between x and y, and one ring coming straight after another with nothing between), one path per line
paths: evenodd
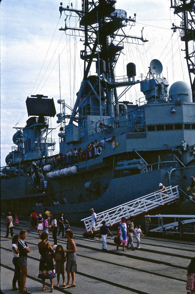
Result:
M70 176L62 176L49 181L48 193L25 194L27 182L30 177L21 177L19 186L16 189L14 180L12 185L10 180L2 181L1 190L3 192L1 198L1 212L11 210L19 212L21 215L29 215L32 208L37 213L44 214L45 208L59 215L61 212L67 216L71 223L81 224L80 220L90 215L90 208L94 208L96 212L112 209L115 206L132 201L144 195L152 193L158 183L162 182L165 186L178 185L185 193L187 186L190 184L190 176L195 173L195 167L180 168L172 172L169 179L169 169L159 169L152 172L140 173L131 176L123 176L112 179L111 169L97 169L85 173L78 173ZM88 191L85 188L85 183L94 180L94 191ZM102 193L102 184L109 181L106 191ZM8 189L9 183L9 189ZM99 186L98 186L99 183ZM15 183L16 184L16 183ZM17 183L18 185L18 183ZM100 187L101 186L101 187ZM105 185L103 185L104 187ZM96 190L97 189L97 190ZM6 191L7 190L7 191ZM6 191L6 192L5 192ZM19 194L17 194L19 191ZM181 190L179 190L181 192ZM85 194L84 194L85 193ZM102 193L99 195L98 193ZM78 195L84 195L83 200L78 199ZM182 192L180 193L182 194ZM53 206L54 200L65 199L67 204ZM81 202L78 202L81 201ZM36 203L43 203L43 207L35 207ZM73 202L73 203L71 203ZM193 214L195 211L195 203L186 201L175 203L166 207L161 207L155 211L160 214ZM154 212L151 212L151 214ZM146 213L145 213L146 214Z

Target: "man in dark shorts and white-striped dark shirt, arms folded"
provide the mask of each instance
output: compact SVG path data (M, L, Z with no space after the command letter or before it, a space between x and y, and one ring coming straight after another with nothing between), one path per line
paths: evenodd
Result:
M21 268L21 276L20 276L20 293L21 294L30 294L30 291L27 291L25 288L26 285L26 279L27 279L27 253L30 252L30 248L27 245L27 242L25 242L25 238L27 236L26 230L21 230L19 232L19 241L18 241L18 251L19 251L19 260L18 264Z

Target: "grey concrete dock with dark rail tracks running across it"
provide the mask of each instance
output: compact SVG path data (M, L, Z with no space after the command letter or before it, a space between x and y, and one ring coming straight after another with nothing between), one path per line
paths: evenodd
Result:
M30 230L30 223L21 221L14 227L14 234L22 229L27 230L26 242L30 247L27 267L27 289L32 293L42 293L41 280L37 278L40 254L37 231ZM140 250L119 251L113 240L108 236L108 251L102 252L102 241L85 239L82 234L84 228L72 227L77 246L76 287L62 289L54 287L54 293L80 294L183 294L186 292L186 267L195 256L195 244L190 241L166 240L163 238L141 238ZM113 231L112 231L113 232ZM2 293L16 293L12 291L13 269L11 237L5 238L5 220L1 220L1 291ZM53 244L52 234L49 232L49 242ZM66 239L58 237L58 244L66 249ZM136 245L136 240L134 239ZM66 273L65 273L66 274ZM47 291L50 290L49 280ZM66 277L67 281L67 277ZM61 283L62 285L62 280ZM57 278L54 286L57 285Z

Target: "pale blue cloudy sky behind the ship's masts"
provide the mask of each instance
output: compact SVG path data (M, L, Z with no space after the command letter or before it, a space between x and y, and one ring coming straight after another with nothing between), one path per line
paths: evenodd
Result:
M63 7L70 6L63 1ZM81 8L81 0L72 0L73 8ZM59 31L65 26L65 15L60 18L58 0L2 0L0 11L1 37L1 166L5 166L5 157L14 145L13 127L24 127L28 119L26 99L31 94L44 94L53 97L57 113L60 112L57 100L59 91L59 60L61 99L73 107L76 93L80 88L83 75L83 61L80 60L82 35L66 35ZM127 16L136 16L135 27L126 34L141 36L149 40L144 46L130 44L123 50L116 72L126 75L126 64L134 62L137 77L147 75L152 59L159 59L163 65L163 76L169 85L178 80L189 82L184 53L184 44L179 39L179 32L173 34L172 23L180 24L170 0L118 0L116 9L124 9ZM77 19L73 17L74 26ZM172 35L173 34L173 35ZM60 57L59 57L60 56ZM118 74L119 73L119 74ZM94 74L94 73L91 73ZM135 102L143 97L140 86L132 87L122 100ZM67 110L67 113L68 110ZM70 113L69 113L70 114ZM52 137L55 138L59 152L59 125L57 118L51 118Z

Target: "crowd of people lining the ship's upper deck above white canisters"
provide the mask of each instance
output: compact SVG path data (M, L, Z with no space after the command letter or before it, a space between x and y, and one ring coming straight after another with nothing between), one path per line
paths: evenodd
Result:
M77 162L83 162L85 160L89 160L91 158L95 158L96 156L99 155L99 151L101 149L105 148L105 140L101 140L98 142L97 140L94 140L86 145L85 148L70 148L66 155L59 153L58 155L56 154L52 160L51 160L51 165L53 165L54 168L61 168L65 165L69 164L74 164ZM100 150L98 148L101 147Z

